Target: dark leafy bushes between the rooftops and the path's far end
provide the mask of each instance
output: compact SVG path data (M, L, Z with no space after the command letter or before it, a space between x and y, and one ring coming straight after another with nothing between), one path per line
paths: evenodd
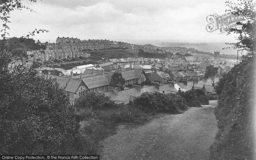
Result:
M201 104L209 104L209 100L202 89L195 89L178 94L145 92L135 98L134 104L146 113L152 111L179 113L179 110L186 110L187 107L201 107Z

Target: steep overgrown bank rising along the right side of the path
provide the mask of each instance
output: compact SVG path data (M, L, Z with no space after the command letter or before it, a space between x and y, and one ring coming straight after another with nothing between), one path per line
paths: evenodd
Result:
M212 159L255 159L255 57L243 60L222 76L215 109L219 131Z

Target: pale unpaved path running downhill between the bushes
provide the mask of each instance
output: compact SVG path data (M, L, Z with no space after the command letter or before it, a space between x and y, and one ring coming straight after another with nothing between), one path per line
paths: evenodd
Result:
M185 113L163 115L146 125L127 128L103 142L104 160L208 159L208 148L218 131L214 107L217 100Z

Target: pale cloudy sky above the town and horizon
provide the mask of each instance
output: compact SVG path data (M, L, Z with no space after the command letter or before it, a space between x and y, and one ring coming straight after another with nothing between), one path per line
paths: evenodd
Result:
M10 36L49 30L33 38L56 42L57 37L109 39L129 43L235 42L236 35L207 32L206 17L222 15L224 0L37 0L23 4L36 12L11 12Z

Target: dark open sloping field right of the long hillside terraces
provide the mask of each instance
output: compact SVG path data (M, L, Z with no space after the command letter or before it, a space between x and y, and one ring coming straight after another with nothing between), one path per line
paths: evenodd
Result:
M106 51L95 51L95 52L88 52L91 54L91 58L94 60L105 60L113 59L113 58L129 58L134 57L135 54L129 53L127 50L122 49L113 49L113 50L106 50Z

